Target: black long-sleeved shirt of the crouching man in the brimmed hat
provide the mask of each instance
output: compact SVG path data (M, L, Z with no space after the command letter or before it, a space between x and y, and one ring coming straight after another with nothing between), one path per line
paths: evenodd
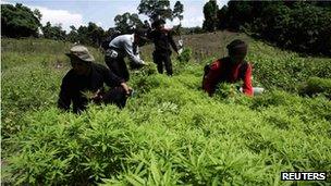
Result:
M88 99L83 95L84 91L97 91L103 89L103 83L110 87L119 86L124 80L114 75L101 64L91 63L88 76L78 75L74 70L70 70L62 79L61 91L58 100L58 107L63 110L70 110L73 102L75 113L86 109Z

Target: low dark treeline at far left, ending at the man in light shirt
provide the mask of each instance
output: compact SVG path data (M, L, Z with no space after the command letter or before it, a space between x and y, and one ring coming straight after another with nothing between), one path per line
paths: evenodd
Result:
M115 32L115 28L105 30L95 23L87 26L70 26L66 33L62 25L51 25L47 22L41 25L41 13L38 10L32 11L29 8L16 3L1 4L1 36L11 38L39 37L53 40L81 42L84 45L100 46L101 41Z

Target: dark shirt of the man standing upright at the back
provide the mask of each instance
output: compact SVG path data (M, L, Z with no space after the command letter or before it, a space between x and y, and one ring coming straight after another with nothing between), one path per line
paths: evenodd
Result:
M157 52L170 52L170 46L172 46L173 50L177 52L177 47L172 38L172 33L170 30L155 29L148 34L148 38L154 41Z

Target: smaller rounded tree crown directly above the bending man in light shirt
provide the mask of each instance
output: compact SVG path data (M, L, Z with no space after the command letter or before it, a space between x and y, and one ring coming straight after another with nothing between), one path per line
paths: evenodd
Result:
M136 27L143 27L143 22L139 20L138 14L130 14L128 12L117 15L114 18L117 29L122 34L132 33Z

